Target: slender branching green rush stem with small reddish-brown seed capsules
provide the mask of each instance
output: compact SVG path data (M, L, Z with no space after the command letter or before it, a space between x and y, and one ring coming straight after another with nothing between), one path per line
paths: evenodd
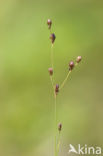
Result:
M51 55L51 67L49 67L48 72L49 72L49 75L50 75L50 81L51 81L52 88L53 88L54 110L55 110L54 156L58 156L59 147L60 147L60 134L61 134L61 130L62 130L62 123L57 124L57 100L56 99L57 99L57 95L58 95L59 91L64 87L64 85L67 82L72 70L80 63L82 57L78 56L76 58L75 62L74 61L69 62L67 76L64 79L64 81L61 83L61 85L59 85L58 83L55 83L55 77L54 77L55 71L54 71L54 61L53 61L53 46L54 46L56 36L51 31L51 27L52 27L51 19L47 20L47 25L48 25L48 29L50 30L50 40L51 40L51 54L50 54ZM57 129L58 129L58 134L57 134Z

